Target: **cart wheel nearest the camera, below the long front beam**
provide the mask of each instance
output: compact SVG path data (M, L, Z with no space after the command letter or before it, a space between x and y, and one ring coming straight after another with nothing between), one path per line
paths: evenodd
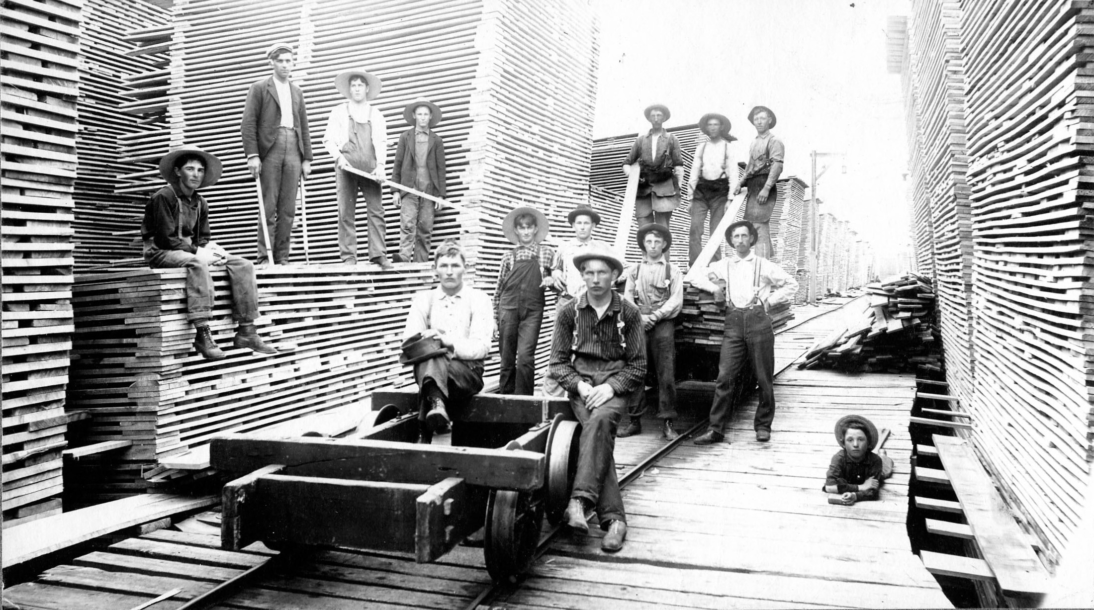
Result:
M486 570L499 583L514 583L532 565L539 544L544 505L531 493L490 490L486 505Z

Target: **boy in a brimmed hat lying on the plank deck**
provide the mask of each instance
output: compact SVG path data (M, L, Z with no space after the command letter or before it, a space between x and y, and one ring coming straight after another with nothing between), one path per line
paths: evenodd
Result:
M836 443L842 448L831 456L824 491L842 494L839 503L847 506L875 500L882 481L893 473L893 460L885 450L873 453L877 429L862 415L845 415L836 422Z

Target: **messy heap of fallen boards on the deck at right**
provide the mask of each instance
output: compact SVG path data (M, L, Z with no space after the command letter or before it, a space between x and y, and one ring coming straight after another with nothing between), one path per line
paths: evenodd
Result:
M868 284L862 313L819 339L799 368L850 373L941 371L935 341L934 292L929 278L910 273Z

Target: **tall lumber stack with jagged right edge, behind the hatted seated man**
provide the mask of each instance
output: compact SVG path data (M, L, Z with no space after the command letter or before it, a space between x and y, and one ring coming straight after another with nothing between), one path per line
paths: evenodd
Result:
M133 28L163 28L167 12L147 2L88 0L80 25L80 131L77 154L73 254L77 271L125 258L140 258L139 228L146 198L118 193L118 176L142 167L121 159L123 142L162 131L162 113L135 121L121 108L128 81L165 61L161 52L135 55L124 35Z

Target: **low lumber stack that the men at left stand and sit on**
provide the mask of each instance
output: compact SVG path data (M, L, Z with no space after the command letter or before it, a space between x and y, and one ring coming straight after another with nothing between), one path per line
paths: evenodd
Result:
M83 443L131 441L108 456L71 465L70 490L105 500L170 476L156 465L222 432L244 432L359 403L374 388L412 383L398 363L412 294L427 265L362 273L324 266L258 270L259 333L295 351L259 357L231 348L234 322L223 271L210 327L226 360L193 349L183 270L83 274L73 286L77 318L69 408L89 411Z

